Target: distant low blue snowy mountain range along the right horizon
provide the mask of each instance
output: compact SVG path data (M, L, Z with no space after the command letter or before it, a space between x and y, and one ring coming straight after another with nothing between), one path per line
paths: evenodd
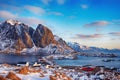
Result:
M88 53L88 54L120 54L120 49L105 49L98 47L88 47L85 45L80 45L76 42L68 42L68 46L74 49L76 52Z

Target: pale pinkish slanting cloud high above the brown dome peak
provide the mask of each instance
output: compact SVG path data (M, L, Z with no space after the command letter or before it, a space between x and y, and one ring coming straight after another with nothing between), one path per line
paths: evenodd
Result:
M28 11L34 13L34 14L39 14L39 15L42 15L45 13L45 10L41 7L38 7L38 6L31 6L31 5L26 5L24 6L25 9L27 9Z

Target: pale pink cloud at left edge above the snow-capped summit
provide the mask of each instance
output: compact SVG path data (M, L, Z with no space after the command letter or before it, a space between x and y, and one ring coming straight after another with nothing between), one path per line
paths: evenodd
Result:
M4 18L4 19L9 19L9 18L17 18L18 15L17 14L13 14L11 12L8 12L8 11L4 11L4 10L1 10L0 11L0 17L1 18Z

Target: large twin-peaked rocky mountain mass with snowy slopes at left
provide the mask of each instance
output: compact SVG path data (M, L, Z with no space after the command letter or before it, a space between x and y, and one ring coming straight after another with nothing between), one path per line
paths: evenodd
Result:
M42 24L36 29L12 19L0 24L0 53L72 52L66 43L61 44L64 42L56 40L52 31Z

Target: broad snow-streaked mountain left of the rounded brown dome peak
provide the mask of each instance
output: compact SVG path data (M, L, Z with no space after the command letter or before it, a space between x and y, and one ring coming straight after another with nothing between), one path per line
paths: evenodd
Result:
M23 23L18 24L17 21L7 20L0 25L0 41L3 42L0 48L13 48L21 51L24 48L32 48L33 42L29 34L29 27Z

